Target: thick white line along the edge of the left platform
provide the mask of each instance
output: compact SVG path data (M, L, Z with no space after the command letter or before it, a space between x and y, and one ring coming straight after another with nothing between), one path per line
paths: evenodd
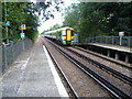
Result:
M43 50L46 54L46 57L47 57L47 61L48 61L48 64L50 64L50 67L51 67L51 70L52 70L52 74L53 74L53 77L54 77L54 80L56 82L56 86L57 86L57 89L58 89L61 97L68 97L68 94L67 94L66 89L64 88L64 85L63 85L63 82L62 82L62 80L61 80L61 78L59 78L59 76L54 67L54 64L53 64L53 62L47 53L47 50L45 48L44 45L43 45Z

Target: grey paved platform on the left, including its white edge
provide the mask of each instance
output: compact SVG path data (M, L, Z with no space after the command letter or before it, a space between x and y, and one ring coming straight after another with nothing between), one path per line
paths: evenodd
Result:
M42 36L2 76L2 97L68 97Z

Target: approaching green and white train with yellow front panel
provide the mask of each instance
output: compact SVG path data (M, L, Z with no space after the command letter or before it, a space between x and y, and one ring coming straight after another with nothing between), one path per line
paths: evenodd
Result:
M73 28L61 28L44 33L45 37L56 40L63 45L73 45L75 42L75 31Z

